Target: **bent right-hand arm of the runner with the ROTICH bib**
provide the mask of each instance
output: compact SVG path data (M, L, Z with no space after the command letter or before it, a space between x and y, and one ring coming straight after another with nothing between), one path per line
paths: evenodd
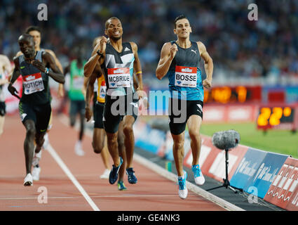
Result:
M51 56L50 53L43 52L41 57L46 63L46 65L44 65L39 60L32 60L32 65L41 70L41 72L45 72L46 67L52 69L53 71L48 70L48 75L52 77L56 82L64 84L65 77L57 67L53 56Z

